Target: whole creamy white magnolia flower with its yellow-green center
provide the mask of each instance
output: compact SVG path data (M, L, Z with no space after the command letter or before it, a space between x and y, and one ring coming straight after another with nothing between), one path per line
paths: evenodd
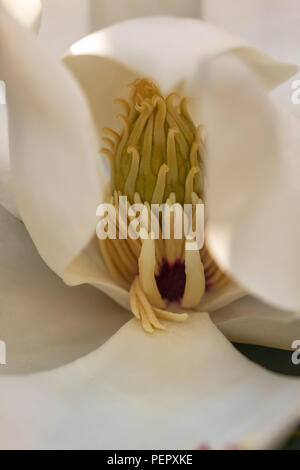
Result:
M1 297L5 310L13 316L21 310L22 321L29 322L39 336L42 364L29 354L29 363L34 364L30 368L20 346L22 372L70 362L51 371L1 378L1 445L119 449L274 445L299 419L298 381L251 364L217 326L230 339L278 347L290 347L299 331L295 220L299 123L268 94L297 68L190 19L149 18L117 24L75 44L63 65L3 12L0 35L0 44L6 45L0 51L1 71L7 84L14 191L29 233L1 210L6 281ZM145 103L143 93L142 101L122 101L128 112L122 131L113 100L126 100L130 83L135 84L134 92L146 83L151 96ZM193 98L190 117L185 100L179 102L178 111L174 93ZM164 126L156 129L165 131L164 138L156 139L153 131L153 145L163 143L164 151L151 153L151 162L160 155L159 164L145 174L140 171L145 154L130 137L139 116L145 117L147 105L147 112L150 107L155 112L154 128L165 111L175 123L170 116L168 122L166 114ZM131 120L131 112L139 116ZM151 119L147 115L139 129L145 140ZM198 124L205 126L205 152L202 134L196 132ZM108 132L116 142L102 140L103 128L111 129ZM180 139L187 150L180 151ZM110 145L106 153L117 170L110 176L99 157L103 143ZM124 173L114 167L118 152L122 158L131 157ZM180 176L185 154L190 160ZM202 159L204 189L201 179L196 179ZM187 183L193 167L197 171ZM157 185L161 171L164 184ZM173 173L177 178L172 179ZM143 174L146 184L139 179ZM168 185L171 196L168 190L162 192ZM157 307L151 297L156 282L159 302L174 300L163 295L157 278L161 259L151 240L141 243L132 263L128 247L122 247L128 256L116 246L99 249L95 214L107 188L110 198L116 191L127 194L131 202L136 197L152 201L159 190L159 199L175 195L181 203L193 193L203 196L206 251L195 251L196 267L189 268L190 253L184 254L180 247L185 285L176 300L183 300L182 310L189 307L189 317L168 323L167 331L146 334L132 319L105 342L128 318L122 307L134 310L147 330L167 324L166 317L184 318L181 313L172 315L166 303ZM45 268L31 240L57 276ZM119 263L111 248L118 253ZM164 254L171 270L174 263L168 256L172 253L165 247ZM225 276L225 283L207 290L206 262L218 276L222 273L220 278ZM117 276L120 272L123 278ZM166 277L168 292L173 274ZM95 297L96 289L70 290L58 277L72 286L90 284L115 303L100 293ZM147 290L149 283L152 290ZM47 312L54 318L50 324ZM105 330L98 343L93 336L95 312ZM49 325L45 340L41 339L43 327L37 330L36 326L41 321ZM19 332L24 334L23 329ZM50 358L53 341L61 344L59 359ZM89 345L83 346L87 341ZM85 355L101 342L105 344ZM32 351L32 341L30 345ZM26 429L20 421L28 423Z

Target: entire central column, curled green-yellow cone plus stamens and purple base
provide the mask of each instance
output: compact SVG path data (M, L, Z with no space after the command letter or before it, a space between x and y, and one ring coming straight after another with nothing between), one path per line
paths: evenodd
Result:
M124 109L118 115L122 127L120 131L104 128L105 147L101 148L111 168L106 202L113 204L119 216L119 198L126 196L129 208L126 220L124 215L123 222L116 218L116 239L101 239L99 246L111 275L129 291L132 313L145 331L152 332L165 328L162 319L187 318L185 313L168 311L170 303L193 309L206 290L217 288L227 278L205 245L189 249L185 235L178 238L175 233L176 214L183 217L183 206L190 204L193 225L196 207L205 197L203 126L193 123L187 98L175 93L164 97L154 83L137 79L130 85L128 101L116 101ZM141 220L143 237L123 236L124 226L132 221L130 207L136 204L143 205L147 220L153 204L175 207L167 239L162 234L161 217L157 237L150 236L148 225L145 230Z

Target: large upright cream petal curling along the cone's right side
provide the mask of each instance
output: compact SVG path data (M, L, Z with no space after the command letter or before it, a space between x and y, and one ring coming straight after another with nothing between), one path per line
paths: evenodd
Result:
M210 249L246 291L300 311L299 121L230 54L197 77L209 136Z

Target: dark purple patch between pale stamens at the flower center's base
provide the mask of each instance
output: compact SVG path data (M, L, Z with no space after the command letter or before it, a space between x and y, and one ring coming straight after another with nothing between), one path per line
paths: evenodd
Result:
M163 299L169 302L179 301L184 294L185 281L185 264L181 260L174 264L163 260L156 276L157 287Z

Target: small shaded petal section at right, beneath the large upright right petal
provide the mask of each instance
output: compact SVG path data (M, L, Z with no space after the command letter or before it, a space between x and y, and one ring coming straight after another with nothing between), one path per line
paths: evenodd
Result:
M275 309L247 296L211 314L230 341L291 349L300 338L300 315Z

